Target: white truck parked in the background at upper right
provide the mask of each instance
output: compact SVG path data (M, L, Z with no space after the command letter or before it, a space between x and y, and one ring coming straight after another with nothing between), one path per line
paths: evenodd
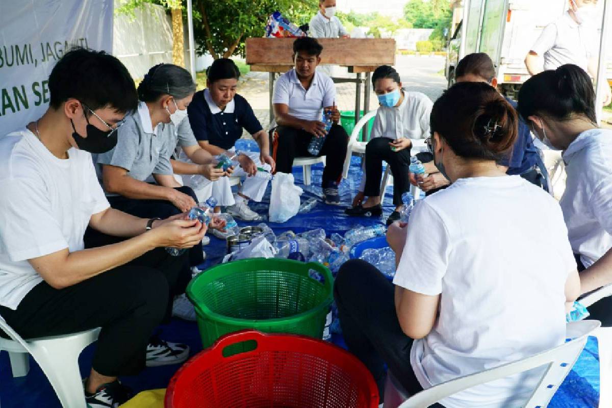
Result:
M487 53L496 68L499 91L516 98L530 77L525 57L542 30L567 10L567 0L464 0L464 7L463 20L447 47L449 86L461 57Z

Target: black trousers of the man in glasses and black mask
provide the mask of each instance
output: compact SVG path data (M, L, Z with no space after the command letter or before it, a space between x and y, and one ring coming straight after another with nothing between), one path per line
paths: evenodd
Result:
M163 248L64 289L39 283L17 310L0 314L23 338L63 335L102 327L92 368L104 376L134 375L144 368L146 346L170 316L172 294L186 254Z

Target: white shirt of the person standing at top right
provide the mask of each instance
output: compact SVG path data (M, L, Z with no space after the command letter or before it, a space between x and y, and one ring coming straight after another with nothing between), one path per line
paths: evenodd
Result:
M575 64L588 70L589 58L599 53L597 32L590 24L578 24L569 13L548 24L531 47L544 57L544 69Z

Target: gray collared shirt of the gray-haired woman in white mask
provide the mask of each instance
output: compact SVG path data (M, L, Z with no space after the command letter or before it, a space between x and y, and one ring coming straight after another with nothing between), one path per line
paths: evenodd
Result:
M188 124L188 121L184 122ZM170 156L178 138L174 125L159 124L153 129L149 109L144 102L140 102L138 111L126 117L125 124L118 132L117 146L99 154L97 163L124 168L127 174L140 181L151 174L173 173Z

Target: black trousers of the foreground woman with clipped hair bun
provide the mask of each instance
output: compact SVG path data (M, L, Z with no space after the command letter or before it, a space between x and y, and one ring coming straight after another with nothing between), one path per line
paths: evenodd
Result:
M401 331L395 313L393 284L373 265L353 259L338 272L334 299L346 345L374 376L381 401L387 377L385 364L408 393L422 391L410 365L414 340Z

